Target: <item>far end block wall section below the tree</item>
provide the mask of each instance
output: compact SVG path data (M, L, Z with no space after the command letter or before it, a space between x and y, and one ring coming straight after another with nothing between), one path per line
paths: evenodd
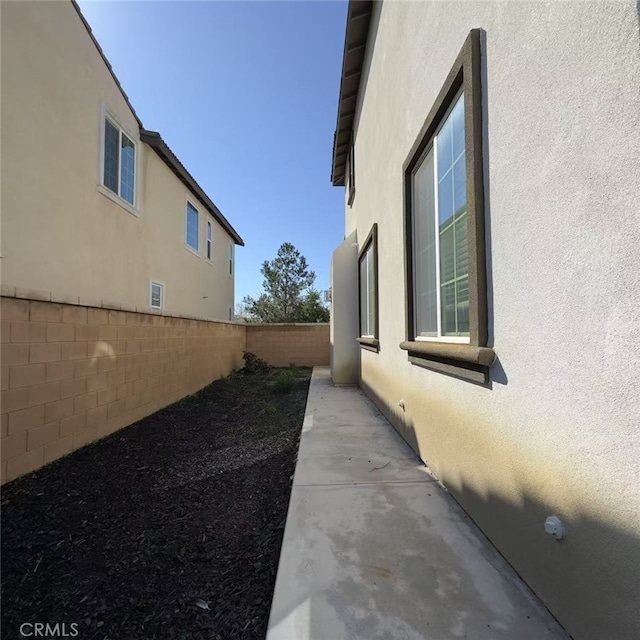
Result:
M329 366L329 324L248 324L247 351L274 367Z

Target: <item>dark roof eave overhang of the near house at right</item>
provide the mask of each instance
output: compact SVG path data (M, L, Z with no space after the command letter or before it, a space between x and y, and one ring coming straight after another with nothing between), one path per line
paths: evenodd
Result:
M358 101L358 95L360 93L360 85L358 84L358 90L354 93L345 94L345 80L347 78L352 79L357 76L358 83L360 82L360 75L362 73L362 67L364 64L363 49L366 50L366 46L369 42L369 24L371 22L371 13L373 11L374 0L349 0L349 8L347 10L347 27L344 36L344 52L342 55L342 74L340 77L340 94L338 97L338 117L336 120L336 129L333 134L333 158L331 166L331 182L334 186L344 186L345 184L345 165L347 162L347 155L349 151L349 144L343 143L338 147L336 142L338 136L344 133L348 133L349 139L351 138L351 130L353 129L353 120L355 116L355 110L347 110L345 102L353 98ZM354 26L358 24L359 29L364 29L367 33L365 42L357 42L349 45L349 41L352 40L354 33ZM355 61L355 64L354 64ZM348 70L348 71L347 71ZM341 149L338 153L338 149ZM343 151L342 149L345 149Z

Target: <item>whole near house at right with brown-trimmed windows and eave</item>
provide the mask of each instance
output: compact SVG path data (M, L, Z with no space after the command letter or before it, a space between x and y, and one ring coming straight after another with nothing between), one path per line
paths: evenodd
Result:
M334 383L577 639L640 629L638 11L351 1L334 138Z

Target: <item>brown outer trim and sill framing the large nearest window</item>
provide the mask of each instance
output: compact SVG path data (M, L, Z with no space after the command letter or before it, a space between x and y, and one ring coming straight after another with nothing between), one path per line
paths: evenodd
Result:
M413 174L444 124L459 95L464 93L467 242L469 256L469 338L450 336L416 339L413 245ZM412 364L454 375L472 382L488 383L495 353L488 347L487 276L484 224L482 67L480 30L467 36L447 79L403 164L405 329L400 348ZM436 214L437 215L437 214ZM438 286L440 283L438 282ZM438 309L441 313L441 309Z

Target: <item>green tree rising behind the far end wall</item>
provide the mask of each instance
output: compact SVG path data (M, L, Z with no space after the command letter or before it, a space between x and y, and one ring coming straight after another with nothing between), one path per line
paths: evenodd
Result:
M313 289L316 274L290 242L278 249L273 260L265 260L260 272L264 276L265 292L257 299L245 296L242 300L250 319L257 322L328 322L329 310Z

